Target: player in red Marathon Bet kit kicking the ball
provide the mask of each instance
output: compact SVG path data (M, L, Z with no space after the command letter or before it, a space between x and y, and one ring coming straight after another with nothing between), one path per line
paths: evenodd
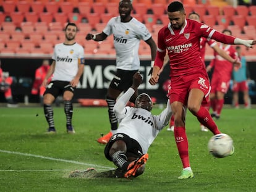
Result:
M194 177L194 173L189 162L186 112L183 107L186 106L213 134L221 133L208 110L201 106L202 101L208 98L211 87L200 53L200 38L204 36L222 43L244 44L247 47L252 47L256 41L224 35L203 23L186 19L183 4L179 1L171 2L167 11L170 23L158 32L158 51L149 82L151 85L158 82L158 72L163 66L167 49L171 78L168 96L174 114L174 137L183 165L181 176L178 178L186 179Z

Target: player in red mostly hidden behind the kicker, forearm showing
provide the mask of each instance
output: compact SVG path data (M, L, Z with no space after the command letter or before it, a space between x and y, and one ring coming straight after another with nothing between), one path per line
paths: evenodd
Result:
M201 22L200 21L200 15L197 14L196 12L191 12L189 14L189 19L195 20L197 22ZM239 60L238 59L233 59L225 51L223 51L223 49L220 49L215 40L211 40L211 39L207 39L205 37L201 37L200 38L200 52L201 52L201 57L202 57L202 60L203 60L204 63L205 63L205 49L206 49L207 44L208 44L208 46L210 46L210 48L212 48L214 51L216 51L221 57L223 57L227 61L229 61L233 64L240 65ZM209 110L210 109L210 101L203 102L202 106ZM169 127L167 128L167 130L168 131L174 131L174 117L173 116L171 117L171 122L169 123ZM200 130L201 131L208 131L207 127L205 127L202 124L200 124Z

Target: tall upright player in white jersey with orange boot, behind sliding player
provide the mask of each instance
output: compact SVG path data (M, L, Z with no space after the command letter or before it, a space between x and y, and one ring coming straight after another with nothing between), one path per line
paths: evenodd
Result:
M145 41L151 49L151 67L155 61L156 44L151 38L150 32L145 25L130 15L132 11L132 2L130 0L121 0L119 2L119 16L113 17L101 33L93 35L88 33L86 40L103 41L109 35L114 36L114 48L116 49L116 69L117 72L111 81L106 94L108 103L109 122L111 131L99 138L98 143L106 144L109 138L117 130L117 119L113 111L116 99L122 91L126 91L132 85L132 76L139 70L139 44L140 40ZM130 98L135 102L138 91Z

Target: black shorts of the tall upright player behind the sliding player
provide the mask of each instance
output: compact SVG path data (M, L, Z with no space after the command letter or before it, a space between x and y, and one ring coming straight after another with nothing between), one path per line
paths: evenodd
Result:
M117 69L109 87L119 91L127 91L132 85L132 77L134 77L134 73L137 71Z

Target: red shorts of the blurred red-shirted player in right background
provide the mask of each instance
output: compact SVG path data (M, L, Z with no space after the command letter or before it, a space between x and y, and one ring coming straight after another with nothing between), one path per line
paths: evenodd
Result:
M213 76L211 78L211 93L216 93L217 91L227 93L229 84L230 78L220 78L218 76Z

